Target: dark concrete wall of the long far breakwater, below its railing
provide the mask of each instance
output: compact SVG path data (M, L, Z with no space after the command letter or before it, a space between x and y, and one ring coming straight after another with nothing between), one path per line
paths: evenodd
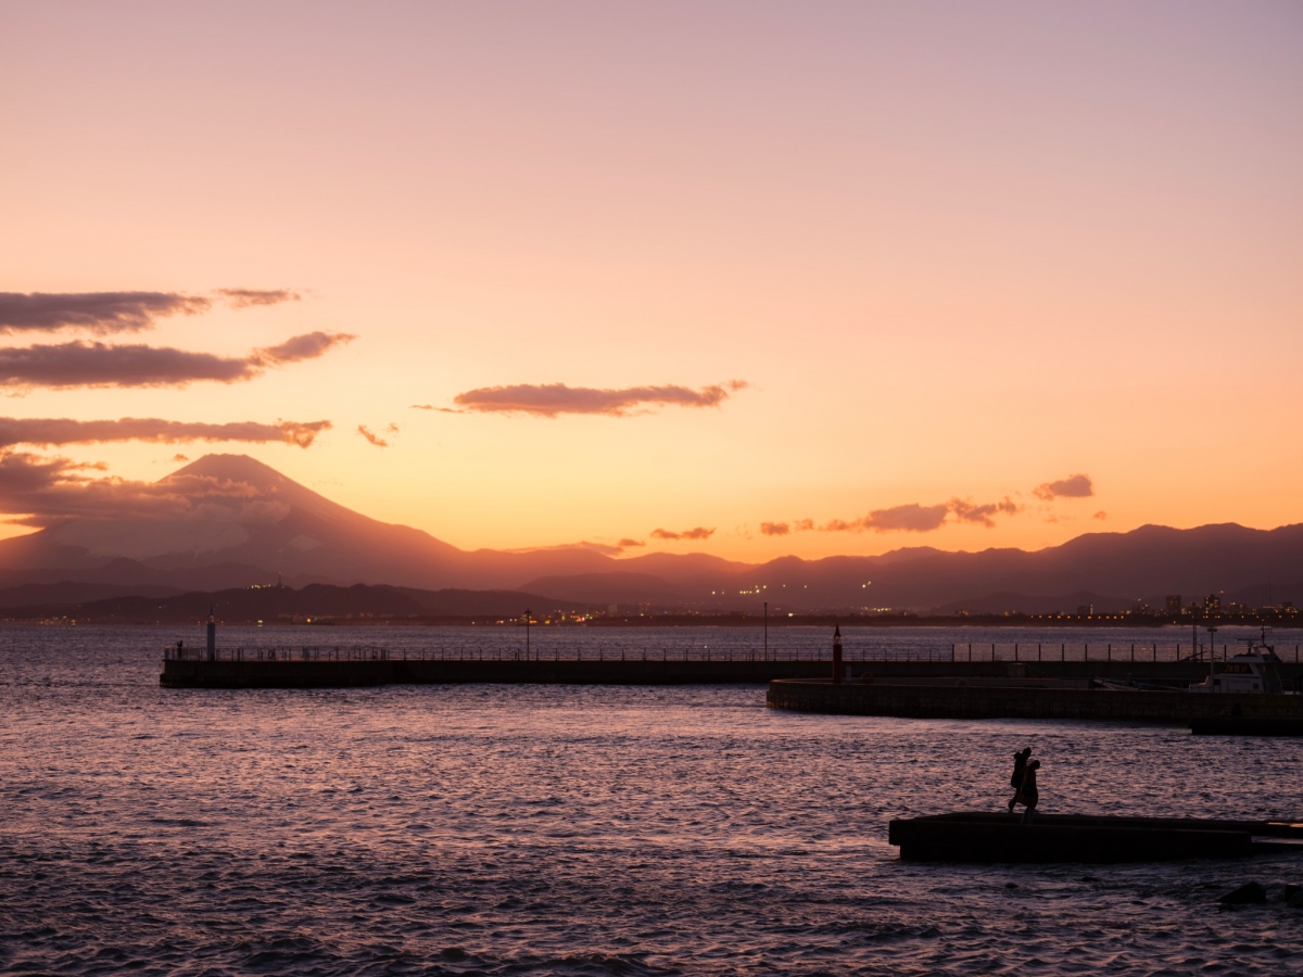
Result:
M163 662L159 684L164 688L348 688L366 685L519 683L576 685L714 685L756 684L775 679L826 679L831 664L812 658L399 658L383 649L366 655L330 658L309 651L296 657L281 650L275 658L266 654L222 657L168 657ZM300 650L302 655L302 650ZM1016 683L1075 683L1087 687L1092 677L1138 679L1156 683L1191 683L1208 673L1199 662L947 662L947 660L850 660L850 676L870 673L876 681L917 680L923 683L958 681L984 685ZM1303 668L1286 666L1291 679ZM851 688L851 687L843 687ZM859 687L855 688L872 688ZM773 693L773 690L771 690ZM1135 694L1135 693L1127 693ZM774 705L770 702L770 705ZM795 707L795 706L791 706Z

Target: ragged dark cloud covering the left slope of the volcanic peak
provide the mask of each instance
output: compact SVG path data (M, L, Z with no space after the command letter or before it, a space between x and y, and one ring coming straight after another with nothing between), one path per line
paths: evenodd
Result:
M201 508L266 517L276 505L259 502L258 490L242 482L185 474L172 474L158 482L134 482L87 474L103 468L64 457L0 451L0 512L21 516L10 520L13 522L48 526L72 516L113 520L189 513Z

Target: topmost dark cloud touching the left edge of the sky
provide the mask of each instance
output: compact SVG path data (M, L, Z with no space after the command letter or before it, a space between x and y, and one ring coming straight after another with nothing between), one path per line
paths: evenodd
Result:
M203 296L179 292L0 292L0 333L138 332L150 328L155 319L195 315L211 305L212 301Z

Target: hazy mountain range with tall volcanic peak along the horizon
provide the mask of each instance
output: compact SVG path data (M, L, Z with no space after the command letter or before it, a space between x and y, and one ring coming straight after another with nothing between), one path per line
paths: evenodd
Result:
M1167 594L1190 603L1208 593L1248 604L1303 599L1303 525L1141 526L1032 552L915 547L745 564L706 554L615 559L582 547L459 550L344 508L242 455L207 455L158 487L171 502L158 513L69 518L0 541L0 606L168 598L278 577L293 588L499 591L494 601L520 591L509 601L546 599L554 608L758 611L767 601L775 614L1045 612L1087 603L1113 611L1136 601L1161 606Z

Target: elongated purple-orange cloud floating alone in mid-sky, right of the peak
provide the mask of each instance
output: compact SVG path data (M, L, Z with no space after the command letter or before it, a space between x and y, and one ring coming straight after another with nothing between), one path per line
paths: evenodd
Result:
M567 387L564 383L513 387L481 387L459 393L452 399L457 406L480 413L533 414L606 414L625 417L633 408L644 405L675 404L678 406L719 406L735 391L744 389L744 380L730 380L692 389L689 387L625 387L623 389L595 389L593 387ZM444 408L447 410L447 408Z

